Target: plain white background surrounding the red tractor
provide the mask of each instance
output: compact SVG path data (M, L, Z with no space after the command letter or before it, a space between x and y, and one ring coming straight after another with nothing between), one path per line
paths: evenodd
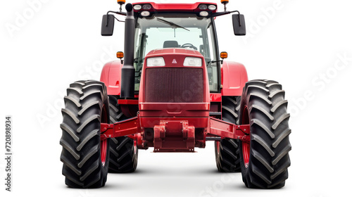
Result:
M139 151L133 174L109 174L101 189L66 187L59 159L65 89L99 80L103 63L123 50L123 24L113 37L100 36L101 16L118 10L113 0L29 2L0 3L0 120L13 116L14 153L13 192L1 184L1 196L351 196L349 1L230 1L229 10L246 16L247 37L234 37L230 15L216 19L220 51L244 63L250 80L277 80L287 91L289 179L269 191L246 189L239 173L218 173L211 142L198 153ZM4 132L0 141L2 155ZM4 167L1 156L1 183Z

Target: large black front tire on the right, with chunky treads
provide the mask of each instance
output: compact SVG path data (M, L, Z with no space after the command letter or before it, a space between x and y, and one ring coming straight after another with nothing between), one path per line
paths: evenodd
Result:
M251 125L249 143L240 142L244 184L249 188L281 188L291 165L291 129L282 85L270 80L247 82L240 120L241 125Z

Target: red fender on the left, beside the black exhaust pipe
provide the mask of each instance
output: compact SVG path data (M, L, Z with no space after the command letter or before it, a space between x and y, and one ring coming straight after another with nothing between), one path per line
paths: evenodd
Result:
M106 85L108 95L120 95L121 68L120 61L112 61L103 66L100 81Z

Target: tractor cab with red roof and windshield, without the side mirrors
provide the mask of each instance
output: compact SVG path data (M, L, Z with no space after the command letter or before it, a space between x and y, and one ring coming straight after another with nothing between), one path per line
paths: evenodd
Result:
M177 9L177 6L180 9ZM156 49L189 49L203 56L210 92L220 89L219 52L211 13L216 4L134 4L136 29L134 36L135 90L139 91L144 59ZM169 11L172 10L172 13ZM202 61L199 61L201 63ZM182 62L183 63L183 62ZM175 61L174 61L174 64ZM200 66L200 65L199 65Z

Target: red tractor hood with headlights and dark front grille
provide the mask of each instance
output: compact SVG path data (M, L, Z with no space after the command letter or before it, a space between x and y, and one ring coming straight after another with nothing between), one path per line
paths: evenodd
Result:
M139 103L144 117L206 117L210 91L201 53L184 48L150 51L142 70Z

